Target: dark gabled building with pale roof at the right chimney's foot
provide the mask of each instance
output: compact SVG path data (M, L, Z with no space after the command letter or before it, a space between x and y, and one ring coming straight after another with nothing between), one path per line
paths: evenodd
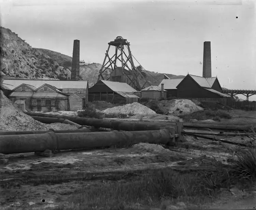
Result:
M188 74L176 86L177 98L225 98L217 77L201 77Z

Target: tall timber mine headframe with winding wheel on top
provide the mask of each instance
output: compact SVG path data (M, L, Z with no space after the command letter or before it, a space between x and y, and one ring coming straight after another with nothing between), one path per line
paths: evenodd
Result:
M100 69L98 82L100 80L109 80L109 78L103 77L103 72L106 71L106 69L110 68L112 71L117 68L117 64L121 62L122 64L122 72L125 74L125 69L130 71L132 74L132 77L130 77L128 74L126 74L126 77L128 78L128 85L132 86L136 90L141 90L144 88L145 84L147 83L146 78L141 74L141 72L134 66L132 54L130 50L130 43L127 41L127 39L123 39L122 36L117 36L114 41L111 41L108 43L109 47L108 50L106 50L105 58L102 64L102 67ZM110 47L115 47L115 54L110 57L109 50ZM125 49L128 50L128 52L125 52ZM106 62L108 58L108 62ZM145 78L145 84L140 85L138 76L141 75L142 78Z

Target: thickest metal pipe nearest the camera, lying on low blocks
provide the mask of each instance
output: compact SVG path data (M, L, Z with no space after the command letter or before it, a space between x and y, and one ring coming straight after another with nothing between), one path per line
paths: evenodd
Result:
M0 153L42 152L45 150L69 150L82 148L126 146L139 142L170 144L170 130L133 132L91 132L0 136Z

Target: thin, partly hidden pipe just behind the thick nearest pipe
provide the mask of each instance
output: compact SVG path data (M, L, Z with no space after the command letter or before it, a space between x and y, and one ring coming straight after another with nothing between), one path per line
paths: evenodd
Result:
M26 131L6 131L0 132L0 136L7 136L7 135L25 135L25 134L45 134L50 132L51 130L26 130ZM54 130L56 134L62 133L88 133L91 132L89 128L81 128L75 130Z

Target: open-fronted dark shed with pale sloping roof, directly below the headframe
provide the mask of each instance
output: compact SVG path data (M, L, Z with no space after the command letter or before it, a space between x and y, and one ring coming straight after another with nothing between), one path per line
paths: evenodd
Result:
M89 101L107 101L118 104L138 102L139 98L134 93L138 92L127 83L100 80L89 88Z

